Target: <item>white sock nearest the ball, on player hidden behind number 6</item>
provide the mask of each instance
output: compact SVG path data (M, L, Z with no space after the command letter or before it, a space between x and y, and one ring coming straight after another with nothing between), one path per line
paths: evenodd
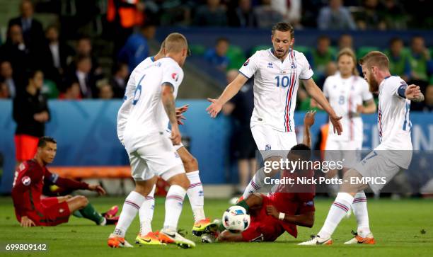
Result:
M200 181L199 171L192 171L186 173L187 178L190 180L190 186L187 190L188 199L190 199L192 214L194 215L194 222L199 222L205 219L204 216L204 193L202 181Z

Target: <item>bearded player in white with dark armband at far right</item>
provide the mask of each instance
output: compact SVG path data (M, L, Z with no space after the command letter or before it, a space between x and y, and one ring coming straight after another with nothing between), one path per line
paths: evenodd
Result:
M412 159L409 108L410 101L424 101L420 87L408 86L399 76L391 76L388 57L382 52L369 52L359 64L370 91L379 91L378 127L381 143L354 169L345 173L340 193L331 205L321 231L300 245L332 244L331 235L350 210L350 205L359 205L354 208L358 229L354 238L345 244L375 244L369 228L365 194L361 192L369 185L374 193L379 193L396 173L408 169ZM373 179L368 184L356 182L356 179L362 178ZM375 182L378 181L377 178L380 178L379 183Z

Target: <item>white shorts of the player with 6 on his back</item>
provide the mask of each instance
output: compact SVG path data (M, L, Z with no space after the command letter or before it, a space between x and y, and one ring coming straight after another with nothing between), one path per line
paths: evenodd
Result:
M166 133L157 132L136 142L129 144L125 140L134 181L147 181L154 176L167 181L172 176L185 173L182 160Z

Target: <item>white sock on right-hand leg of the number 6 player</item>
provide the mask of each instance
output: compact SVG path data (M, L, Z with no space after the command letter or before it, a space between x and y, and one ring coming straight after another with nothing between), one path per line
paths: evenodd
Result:
M180 213L182 212L183 198L186 190L180 185L171 185L166 196L166 218L164 229L175 232L178 228Z

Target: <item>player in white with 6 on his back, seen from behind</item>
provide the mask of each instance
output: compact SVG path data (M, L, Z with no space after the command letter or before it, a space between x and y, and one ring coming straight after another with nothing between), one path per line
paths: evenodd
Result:
M178 234L178 220L190 181L173 144L180 144L181 135L175 113L175 97L183 81L182 66L187 57L187 40L171 33L165 40L165 57L149 66L134 69L128 84L135 84L123 143L129 155L135 189L129 193L115 231L108 238L110 247L131 247L125 234L139 208L154 188L157 176L171 186L166 196L166 217L158 239L183 248L195 243ZM171 124L171 137L164 131Z

